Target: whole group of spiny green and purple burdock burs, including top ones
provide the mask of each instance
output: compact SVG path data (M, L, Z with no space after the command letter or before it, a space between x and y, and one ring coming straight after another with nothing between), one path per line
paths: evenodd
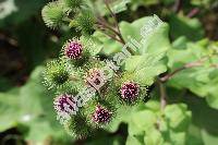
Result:
M70 25L92 37L95 17L82 0L55 1L43 9L43 19L51 28L66 23L69 15L74 17ZM93 49L80 38L69 39L59 59L47 63L44 72L45 84L57 95L53 100L57 117L76 137L108 128L119 116L120 106L131 107L146 96L146 86L141 86L134 74L122 67L113 70L98 55L93 55Z

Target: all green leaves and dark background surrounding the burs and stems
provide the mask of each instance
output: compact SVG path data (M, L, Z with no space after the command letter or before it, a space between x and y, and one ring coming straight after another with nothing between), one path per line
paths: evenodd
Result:
M150 87L150 100L132 109L119 108L119 118L110 129L86 140L66 135L52 110L53 95L41 85L45 62L57 57L65 39L76 36L66 26L46 28L40 11L46 0L0 1L0 141L2 144L128 144L128 145L216 145L218 144L218 63L216 56L204 65L186 69L166 83L167 107L162 110L157 84ZM108 15L101 0L99 11ZM167 22L153 34L142 57L129 59L141 65L138 77L173 71L189 62L218 51L218 3L216 0L130 0L117 1L121 33L137 38L138 27L154 13ZM124 11L125 10L125 11ZM169 34L169 36L168 36ZM118 51L118 44L96 33L102 53ZM144 45L144 46L145 46ZM160 47L161 46L161 47ZM108 49L111 48L111 49ZM161 48L161 49L158 49ZM167 50L167 65L156 58ZM143 48L142 48L142 51ZM143 52L142 52L143 53ZM146 62L146 64L144 63ZM150 64L147 68L147 64ZM158 70L158 71L154 71ZM146 73L144 73L146 72ZM161 74L164 75L164 74ZM147 81L147 80L146 80Z

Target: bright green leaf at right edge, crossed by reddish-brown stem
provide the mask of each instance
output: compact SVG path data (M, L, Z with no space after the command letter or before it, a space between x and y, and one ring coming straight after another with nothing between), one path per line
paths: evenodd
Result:
M196 44L189 43L179 38L173 43L173 49L168 52L168 65L171 70L183 67L190 62L196 62L202 58L211 55L214 47L208 40ZM218 108L218 70L211 67L218 61L215 55L208 58L201 67L186 69L175 74L169 82L169 86L177 88L187 88L199 97L205 97L208 105Z

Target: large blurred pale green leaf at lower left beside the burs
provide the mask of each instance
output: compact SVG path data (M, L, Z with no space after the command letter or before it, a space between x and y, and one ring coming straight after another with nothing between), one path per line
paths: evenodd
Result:
M41 84L43 70L36 68L21 88L0 94L0 131L22 124L28 129L24 134L29 142L43 144L51 137L53 142L68 143L70 136L56 120L53 95Z

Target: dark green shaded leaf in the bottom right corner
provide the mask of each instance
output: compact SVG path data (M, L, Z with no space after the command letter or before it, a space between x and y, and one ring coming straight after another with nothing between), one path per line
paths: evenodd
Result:
M199 98L189 92L181 93L180 89L172 87L168 88L167 92L169 102L185 102L189 110L192 111L192 124L189 128L186 144L216 144L218 110L210 108L204 98Z

